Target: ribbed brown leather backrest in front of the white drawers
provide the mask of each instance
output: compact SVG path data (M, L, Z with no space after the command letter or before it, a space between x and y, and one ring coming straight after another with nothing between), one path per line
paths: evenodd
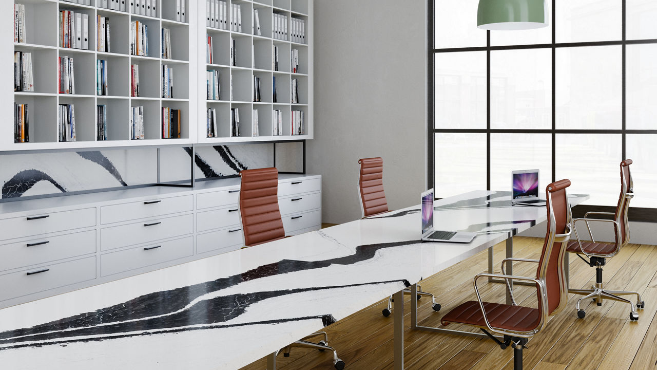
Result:
M268 169L240 172L240 216L244 244L255 246L285 237L279 209L279 171Z

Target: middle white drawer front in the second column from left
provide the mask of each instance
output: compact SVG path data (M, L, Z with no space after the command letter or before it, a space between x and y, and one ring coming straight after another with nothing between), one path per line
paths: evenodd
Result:
M113 250L194 232L194 215L182 215L113 226L101 230L101 250Z

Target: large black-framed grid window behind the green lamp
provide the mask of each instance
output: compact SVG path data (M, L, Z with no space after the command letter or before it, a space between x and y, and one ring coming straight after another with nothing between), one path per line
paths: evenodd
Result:
M429 5L436 197L540 169L541 188L570 178L612 207L632 158L635 219L657 221L657 1L547 0L549 26L526 31L480 30L477 4Z

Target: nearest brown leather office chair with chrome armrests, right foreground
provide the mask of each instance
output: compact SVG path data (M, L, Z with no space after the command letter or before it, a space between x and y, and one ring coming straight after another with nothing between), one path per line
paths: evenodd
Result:
M507 258L502 261L502 274L481 273L474 277L474 291L477 301L470 301L452 309L442 317L443 325L459 323L478 327L504 350L513 348L513 368L522 369L522 349L528 339L542 330L547 323L547 317L555 315L566 305L568 287L564 270L566 242L570 239L571 213L566 188L570 180L560 180L549 184L547 195L547 233L541 251L540 259ZM505 275L506 261L524 261L538 263L536 277L517 277ZM504 278L510 292L512 305L482 302L477 287L481 277ZM525 280L536 284L538 307L524 307L513 298L509 280ZM492 333L501 334L499 340Z

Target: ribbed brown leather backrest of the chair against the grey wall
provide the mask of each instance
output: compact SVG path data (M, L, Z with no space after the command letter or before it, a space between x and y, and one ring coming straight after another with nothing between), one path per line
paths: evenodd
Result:
M358 178L358 195L361 199L362 216L388 212L388 201L383 191L383 159L359 159L361 174Z

